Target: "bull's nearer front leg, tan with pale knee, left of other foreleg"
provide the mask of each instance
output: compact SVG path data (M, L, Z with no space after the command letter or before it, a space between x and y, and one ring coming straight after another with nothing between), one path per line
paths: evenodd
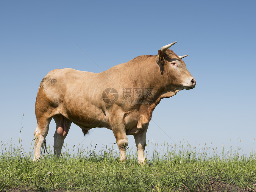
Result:
M110 120L110 124L120 151L120 161L125 162L127 160L125 153L128 146L128 138L126 135L123 118L112 118Z

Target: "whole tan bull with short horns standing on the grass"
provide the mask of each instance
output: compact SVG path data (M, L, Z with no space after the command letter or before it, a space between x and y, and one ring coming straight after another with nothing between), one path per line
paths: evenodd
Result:
M40 158L53 118L57 157L73 122L84 134L94 127L111 129L121 161L126 160L127 135L133 135L138 162L144 164L146 131L154 108L161 99L196 85L181 60L187 55L177 56L169 49L174 43L163 46L155 56L142 55L101 73L71 68L50 71L41 81L36 97L34 160Z

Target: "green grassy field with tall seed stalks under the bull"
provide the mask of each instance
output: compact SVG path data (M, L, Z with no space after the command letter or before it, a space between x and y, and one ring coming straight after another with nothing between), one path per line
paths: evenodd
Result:
M6 148L1 148L0 191L256 191L256 156L245 157L238 149L218 155L206 146L164 143L140 166L129 149L128 161L120 163L115 144L61 158L49 152L35 163L32 152Z

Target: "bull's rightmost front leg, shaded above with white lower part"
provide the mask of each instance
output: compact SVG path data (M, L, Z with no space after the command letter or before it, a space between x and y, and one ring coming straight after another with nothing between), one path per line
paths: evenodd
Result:
M141 165L146 163L145 157L145 147L146 147L146 132L148 130L149 124L145 124L143 129L140 130L137 134L133 135L135 143L138 150L138 162Z

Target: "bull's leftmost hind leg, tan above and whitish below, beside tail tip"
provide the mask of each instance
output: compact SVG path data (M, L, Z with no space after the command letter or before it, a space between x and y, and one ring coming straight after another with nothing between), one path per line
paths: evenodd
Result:
M37 119L37 127L35 129L35 155L33 161L40 158L41 148L45 143L46 135L48 134L49 124L51 118L40 118Z

